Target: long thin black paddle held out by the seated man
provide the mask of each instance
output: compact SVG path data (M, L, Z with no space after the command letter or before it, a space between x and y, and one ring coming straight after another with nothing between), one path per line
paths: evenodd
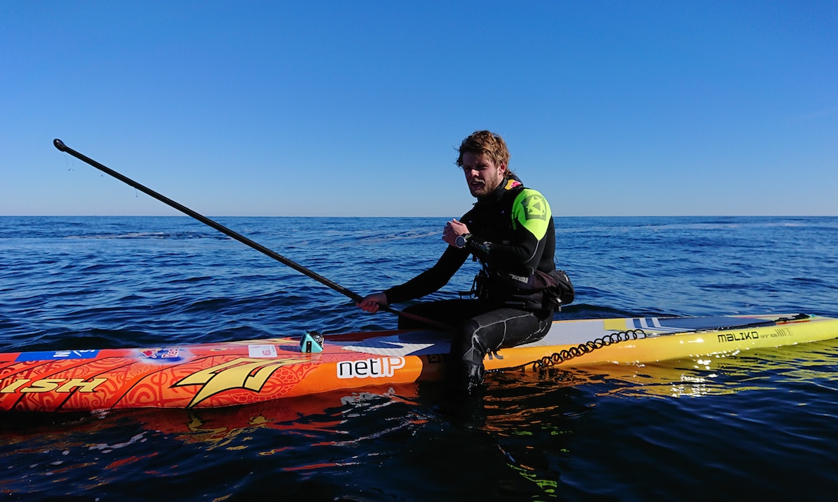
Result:
M265 246L262 246L260 243L256 243L256 242L252 241L251 239L246 238L245 236L241 235L240 233L235 233L234 231L230 230L230 228L226 228L221 223L217 223L217 222L205 217L202 214L196 213L192 209L189 209L189 207L186 207L183 204L179 204L178 202L174 202L172 199L170 199L168 197L165 197L165 196L159 194L158 192L154 192L151 188L145 187L145 186L141 185L140 183L135 182L131 178L123 176L122 174L112 170L111 168L101 165L99 162L94 161L90 157L85 156L85 155L79 153L78 151L73 150L72 148L70 148L70 146L66 146L64 144L64 141L61 141L59 139L55 139L53 141L53 144L54 144L55 148L59 149L59 151L69 153L71 156L75 156L75 158L79 159L80 161L84 161L84 162L90 164L91 166L96 167L96 169L100 170L101 172L105 172L106 174L109 174L112 177L115 177L117 180L119 180L121 182L124 182L124 183L127 183L128 185L136 188L137 190L139 190L143 193L146 193L147 195L150 195L151 197L156 198L158 201L163 202L164 204L167 204L168 206L174 207L175 209L177 209L181 213L185 213L185 214L191 216L192 218L195 218L199 222L204 223L205 225L209 225L212 228L215 228L220 233L224 233L228 237L235 238L235 240L239 241L240 243L246 244L246 245L250 246L251 248L256 249L256 251L259 251L262 254L266 254L267 256L270 256L272 259L275 259L282 264L286 264L287 266L291 267L294 270L297 270L297 272L300 272L301 274L308 275L308 277L318 281L320 284L326 285L329 288L334 289L335 291L337 291L341 295L348 296L349 298L354 300L356 303L363 300L362 296L360 296L356 293L353 293L352 291L350 291L349 289L344 288L340 284L337 284L337 283L335 283L335 282L333 282L329 279L326 279L322 275L317 274L316 272L313 272L312 270L306 269L305 267L303 267L303 265L292 262L290 259L287 259L284 256L282 256L282 254L278 254L278 253L272 251L271 249L268 249ZM435 320L426 319L426 318L420 317L418 315L412 315L412 314L409 314L407 312L402 312L401 310L393 309L389 305L381 305L380 308L381 308L381 310L391 312L392 314L401 315L402 317L405 317L406 319L416 320L417 322L421 322L422 324L435 327L439 330L446 330L446 331L451 330L450 326L443 325L441 323L438 323Z

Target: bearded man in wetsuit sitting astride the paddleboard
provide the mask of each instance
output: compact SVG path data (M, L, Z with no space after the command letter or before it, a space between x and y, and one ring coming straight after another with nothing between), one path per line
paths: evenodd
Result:
M459 382L468 390L483 382L487 353L540 340L558 305L547 289L556 285L551 282L556 276L556 237L550 206L541 193L524 187L510 171L509 161L506 143L492 132L476 131L464 139L457 165L477 202L460 221L454 218L445 225L442 240L448 247L442 258L416 278L358 304L375 313L380 305L433 293L473 254L483 265L475 278L475 299L441 300L405 310L454 328L452 362L459 366ZM400 318L399 327L427 326Z

